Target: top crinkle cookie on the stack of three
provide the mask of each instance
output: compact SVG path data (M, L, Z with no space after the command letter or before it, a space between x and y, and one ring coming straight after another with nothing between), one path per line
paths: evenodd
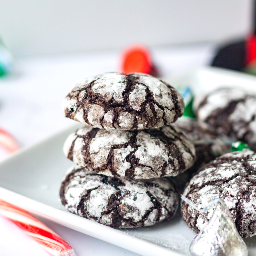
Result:
M66 117L109 129L147 129L182 116L180 93L146 74L105 73L74 85L62 102Z

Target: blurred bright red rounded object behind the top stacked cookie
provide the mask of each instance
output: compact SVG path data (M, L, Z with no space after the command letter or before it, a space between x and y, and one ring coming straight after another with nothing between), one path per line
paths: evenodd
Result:
M140 44L128 46L121 52L121 72L123 74L144 73L156 75L148 49Z

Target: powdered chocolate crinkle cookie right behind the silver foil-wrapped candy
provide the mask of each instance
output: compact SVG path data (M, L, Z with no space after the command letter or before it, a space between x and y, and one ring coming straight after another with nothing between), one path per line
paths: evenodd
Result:
M256 234L256 153L237 151L225 154L205 165L187 184L184 196L199 209L221 198L231 213L241 237ZM182 217L199 233L214 209L199 213L184 201Z

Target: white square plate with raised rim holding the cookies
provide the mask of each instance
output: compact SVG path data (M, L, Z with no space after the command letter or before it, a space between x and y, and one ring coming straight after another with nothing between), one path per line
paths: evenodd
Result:
M196 93L220 86L240 85L256 92L256 78L216 68L200 69L185 75L174 86L189 85ZM181 219L174 218L152 227L117 230L67 212L59 199L59 188L73 163L62 146L76 124L51 138L26 148L1 162L0 198L38 216L91 235L141 255L190 255L189 244L195 233ZM256 236L245 239L249 255L256 254Z

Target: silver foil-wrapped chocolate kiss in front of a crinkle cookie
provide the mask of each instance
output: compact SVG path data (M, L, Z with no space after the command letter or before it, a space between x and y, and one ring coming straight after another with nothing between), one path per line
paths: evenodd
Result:
M191 255L248 256L246 244L236 229L229 209L221 199L213 201L203 210L216 207L209 222L192 240Z

